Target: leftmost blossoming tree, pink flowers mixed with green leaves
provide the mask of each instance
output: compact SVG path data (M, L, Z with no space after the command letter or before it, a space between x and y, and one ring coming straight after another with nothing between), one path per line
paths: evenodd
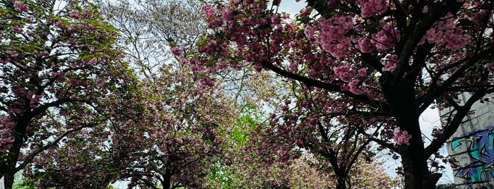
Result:
M124 91L116 30L88 1L0 1L0 176L105 122Z

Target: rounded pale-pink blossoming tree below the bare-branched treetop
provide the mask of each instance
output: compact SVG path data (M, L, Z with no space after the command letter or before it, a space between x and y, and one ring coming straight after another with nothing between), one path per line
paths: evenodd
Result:
M220 89L196 81L186 69L163 68L140 97L149 121L127 137L136 157L125 170L136 184L163 188L199 187L214 159L221 157L226 127L233 124L232 102ZM149 95L149 96L147 96ZM146 120L146 119L145 119ZM139 137L136 137L139 136Z

